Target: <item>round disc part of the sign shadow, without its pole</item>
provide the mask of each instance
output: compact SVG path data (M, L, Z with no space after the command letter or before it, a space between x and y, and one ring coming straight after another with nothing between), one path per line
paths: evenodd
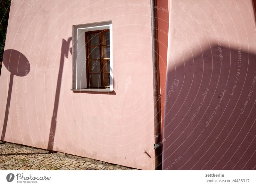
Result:
M3 64L12 75L25 76L30 71L28 59L17 50L4 50Z

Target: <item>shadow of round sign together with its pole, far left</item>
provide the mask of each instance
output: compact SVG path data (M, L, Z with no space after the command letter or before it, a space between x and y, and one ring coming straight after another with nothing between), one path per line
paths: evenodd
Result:
M26 76L30 71L30 64L28 59L17 50L13 50L13 49L4 50L3 64L11 74L10 74L10 82L9 82L9 88L7 93L8 95L7 95L5 114L4 114L4 124L3 124L2 135L1 135L2 141L4 141L4 138L5 138L7 123L9 118L13 77L14 75L20 76L20 77Z

